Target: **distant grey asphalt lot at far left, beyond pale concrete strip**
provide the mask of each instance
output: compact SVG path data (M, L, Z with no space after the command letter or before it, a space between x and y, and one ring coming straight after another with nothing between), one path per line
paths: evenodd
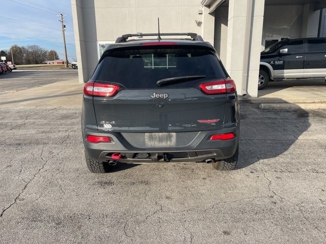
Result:
M16 92L37 86L78 78L78 71L69 70L13 70L0 74L0 93Z

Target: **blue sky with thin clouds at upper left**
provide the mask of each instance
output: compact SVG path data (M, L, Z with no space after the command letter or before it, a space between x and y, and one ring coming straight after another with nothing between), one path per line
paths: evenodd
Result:
M8 50L13 44L39 45L55 49L64 58L61 22L56 16L62 12L68 15L65 17L68 59L72 62L76 57L70 0L1 0L0 9L0 50Z

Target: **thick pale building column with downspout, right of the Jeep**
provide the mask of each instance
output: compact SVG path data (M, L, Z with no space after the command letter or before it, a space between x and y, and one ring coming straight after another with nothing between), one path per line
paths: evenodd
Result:
M229 1L226 69L239 95L257 97L264 2Z

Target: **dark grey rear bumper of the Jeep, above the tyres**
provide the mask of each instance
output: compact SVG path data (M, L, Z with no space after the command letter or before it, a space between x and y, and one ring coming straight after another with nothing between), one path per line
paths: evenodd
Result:
M210 140L215 134L232 132L235 138L230 140ZM177 133L178 134L178 133ZM109 136L112 142L90 143L87 135ZM200 131L196 138L186 146L176 145L165 148L140 148L128 143L121 133L94 133L84 130L83 140L85 153L92 159L110 161L113 153L119 153L123 163L155 163L155 162L204 162L206 159L227 159L234 155L238 147L239 130L237 127L222 130ZM137 136L140 136L139 133Z

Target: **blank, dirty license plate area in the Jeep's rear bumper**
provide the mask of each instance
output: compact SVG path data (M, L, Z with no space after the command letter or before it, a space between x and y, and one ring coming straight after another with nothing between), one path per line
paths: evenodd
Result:
M146 147L173 147L176 141L176 133L145 133Z

